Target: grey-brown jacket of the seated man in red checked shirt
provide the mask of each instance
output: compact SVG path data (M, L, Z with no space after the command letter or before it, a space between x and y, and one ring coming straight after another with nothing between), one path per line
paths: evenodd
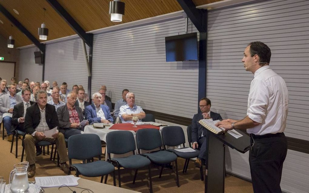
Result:
M81 107L76 107L75 110L79 117L79 122L82 122L84 120L83 117L83 110ZM70 115L69 115L69 108L67 105L63 105L61 107L57 108L57 115L58 115L58 121L59 121L59 131L64 132L65 129L70 129Z

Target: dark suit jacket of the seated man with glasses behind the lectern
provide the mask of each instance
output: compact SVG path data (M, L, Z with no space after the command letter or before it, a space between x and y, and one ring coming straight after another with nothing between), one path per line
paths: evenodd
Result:
M215 113L213 111L210 111L210 118L212 118L214 121L222 119L221 115L219 113ZM201 137L202 131L203 135L207 136L208 131L206 128L204 128L201 124L198 123L199 120L204 119L201 112L195 114L192 119L192 142L197 142L198 139Z

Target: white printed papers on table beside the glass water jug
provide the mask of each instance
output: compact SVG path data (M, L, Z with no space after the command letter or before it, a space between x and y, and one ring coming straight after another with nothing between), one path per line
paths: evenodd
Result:
M60 187L61 185L77 186L78 177L74 175L69 176L46 176L46 177L35 177L36 184L40 187Z

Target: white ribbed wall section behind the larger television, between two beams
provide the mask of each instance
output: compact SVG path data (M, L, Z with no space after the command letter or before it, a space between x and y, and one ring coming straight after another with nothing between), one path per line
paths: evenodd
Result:
M184 22L178 18L95 35L92 93L105 84L115 103L126 88L142 108L192 118L198 61L165 61L165 37L184 34ZM191 22L188 28L197 32Z

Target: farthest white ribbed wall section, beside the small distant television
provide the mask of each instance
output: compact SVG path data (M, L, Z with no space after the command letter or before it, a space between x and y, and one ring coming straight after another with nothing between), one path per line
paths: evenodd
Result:
M36 64L34 52L40 51L36 46L20 49L19 55L19 80L29 78L30 81L42 82L43 66Z

